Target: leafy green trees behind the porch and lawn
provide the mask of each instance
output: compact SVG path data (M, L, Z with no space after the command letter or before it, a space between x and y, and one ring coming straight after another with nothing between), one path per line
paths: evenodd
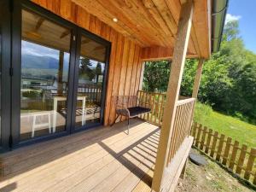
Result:
M143 89L166 91L169 66L169 61L146 62ZM192 95L196 67L196 60L185 62L180 95ZM256 55L245 48L237 20L225 25L219 51L204 64L198 99L256 124Z

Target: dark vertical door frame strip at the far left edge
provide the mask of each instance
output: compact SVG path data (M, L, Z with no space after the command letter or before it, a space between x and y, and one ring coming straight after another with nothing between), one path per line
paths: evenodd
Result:
M2 0L0 2L1 9L1 137L0 137L0 152L8 150L10 147L10 89L11 89L11 4L8 0ZM4 15L4 16L3 16Z

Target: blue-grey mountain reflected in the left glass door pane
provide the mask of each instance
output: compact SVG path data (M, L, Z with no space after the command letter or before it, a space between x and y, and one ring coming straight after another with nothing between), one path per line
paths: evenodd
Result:
M59 61L50 56L22 55L22 68L58 69Z

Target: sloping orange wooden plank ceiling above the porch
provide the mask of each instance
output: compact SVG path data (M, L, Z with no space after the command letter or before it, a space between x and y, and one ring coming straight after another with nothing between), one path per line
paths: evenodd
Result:
M173 49L183 0L72 1L142 47ZM194 4L188 56L208 58L211 51L210 0L194 0ZM113 18L118 21L114 22Z

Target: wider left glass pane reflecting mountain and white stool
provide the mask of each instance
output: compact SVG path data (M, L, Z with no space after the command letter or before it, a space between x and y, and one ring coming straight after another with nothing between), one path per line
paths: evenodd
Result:
M71 30L22 10L20 141L65 131Z

